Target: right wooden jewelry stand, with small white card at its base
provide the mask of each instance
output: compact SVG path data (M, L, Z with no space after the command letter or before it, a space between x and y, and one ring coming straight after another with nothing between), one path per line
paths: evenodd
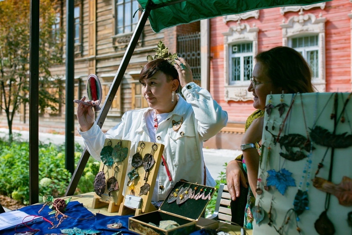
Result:
M134 215L140 215L142 213L157 210L155 208L155 206L153 206L151 204L151 198L152 198L152 192L155 187L156 177L158 175L158 170L159 170L159 166L160 166L160 162L161 162L161 156L163 155L163 151L164 151L164 145L159 144L159 143L144 142L144 141L143 141L143 143L145 144L144 148L141 149L142 141L140 141L138 143L138 148L137 148L137 152L140 153L140 155L142 156L142 159L144 158L145 154L150 154L152 152L152 146L153 146L153 144L156 144L157 149L155 150L155 152L153 154L155 163L149 169L147 180L144 180L145 171L144 171L143 165L137 167L136 171L139 176L133 180L134 196L141 197L142 202L141 202L138 209L131 209L131 208L128 208L124 205L125 198L123 198L123 202L122 202L122 204L120 206L120 210L119 210L119 215L133 214L133 210L135 210ZM132 170L132 167L130 168L130 170ZM140 192L140 187L143 186L145 183L150 185L149 191L146 194L138 195ZM128 186L126 188L126 194L131 194L131 190L129 189Z

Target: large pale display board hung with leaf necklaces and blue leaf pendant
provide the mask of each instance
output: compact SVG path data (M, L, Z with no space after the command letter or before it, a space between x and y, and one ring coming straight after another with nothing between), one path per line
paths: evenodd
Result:
M351 94L270 96L266 107L271 112L266 110L264 115L260 180L252 188L257 192L253 235L350 234ZM284 109L278 108L283 104L287 105ZM256 220L259 212L261 222Z

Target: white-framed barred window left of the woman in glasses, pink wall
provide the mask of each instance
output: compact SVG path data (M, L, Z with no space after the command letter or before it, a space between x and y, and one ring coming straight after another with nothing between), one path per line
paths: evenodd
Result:
M230 80L229 84L238 84L249 81L252 76L253 43L233 44L229 46L230 55Z

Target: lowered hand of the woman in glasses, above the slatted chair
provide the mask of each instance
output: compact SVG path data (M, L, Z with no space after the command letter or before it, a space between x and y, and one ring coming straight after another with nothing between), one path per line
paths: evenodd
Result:
M232 160L226 166L226 181L231 200L240 196L240 184L247 188L246 177L243 173L242 162Z

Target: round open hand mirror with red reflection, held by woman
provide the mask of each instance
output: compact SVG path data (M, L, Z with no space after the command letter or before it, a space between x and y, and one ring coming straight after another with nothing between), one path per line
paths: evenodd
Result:
M86 82L88 100L92 100L95 103L89 104L86 101L74 100L75 103L82 103L84 105L93 106L95 112L100 110L99 104L101 103L101 85L98 77L95 74L90 74Z

